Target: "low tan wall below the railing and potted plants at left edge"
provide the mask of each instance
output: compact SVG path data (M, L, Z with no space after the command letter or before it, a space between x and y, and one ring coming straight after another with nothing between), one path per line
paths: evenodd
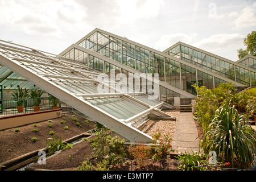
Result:
M10 115L0 118L0 130L61 117L62 109Z

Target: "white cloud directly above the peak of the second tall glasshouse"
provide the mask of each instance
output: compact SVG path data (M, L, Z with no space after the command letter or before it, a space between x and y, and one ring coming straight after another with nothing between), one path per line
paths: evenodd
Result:
M160 49L166 49L171 47L172 45L176 44L177 42L184 42L184 43L192 43L192 41L196 38L196 33L191 34L170 34L170 35L163 35L161 36L160 40L156 42L156 47Z

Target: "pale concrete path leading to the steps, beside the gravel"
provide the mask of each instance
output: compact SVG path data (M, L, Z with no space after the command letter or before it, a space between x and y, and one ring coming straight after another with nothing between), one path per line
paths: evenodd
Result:
M192 153L199 152L199 138L192 113L180 113L176 132L172 139L172 149L174 153L184 154L185 151Z

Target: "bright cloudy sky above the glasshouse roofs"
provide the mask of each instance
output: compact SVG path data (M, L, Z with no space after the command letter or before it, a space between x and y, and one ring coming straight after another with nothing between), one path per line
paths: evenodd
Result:
M233 61L256 30L254 0L0 0L0 39L59 54L94 28L164 51L177 42Z

